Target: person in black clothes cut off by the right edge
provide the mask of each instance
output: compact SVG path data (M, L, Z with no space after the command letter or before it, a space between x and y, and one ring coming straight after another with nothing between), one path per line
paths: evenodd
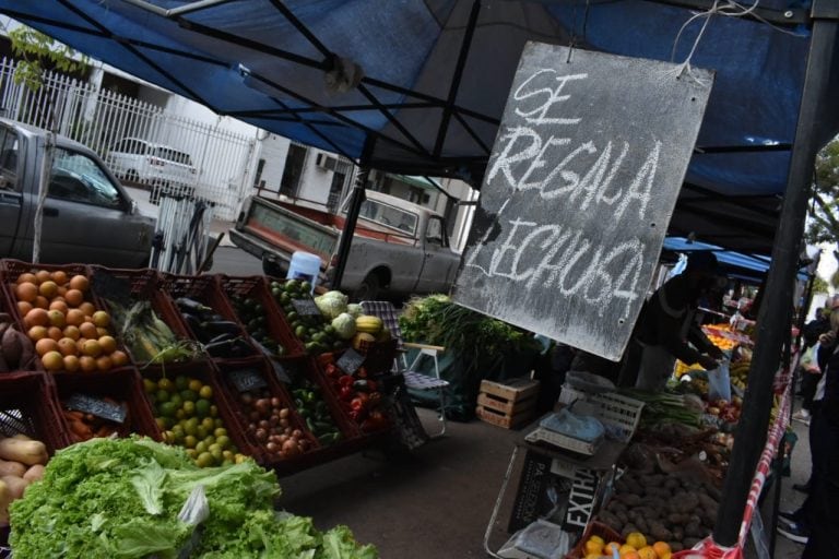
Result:
M839 557L839 308L830 313L830 332L819 337L818 360L826 364L825 396L811 424L811 437L819 444L813 452L813 474L807 504L810 538L802 559Z

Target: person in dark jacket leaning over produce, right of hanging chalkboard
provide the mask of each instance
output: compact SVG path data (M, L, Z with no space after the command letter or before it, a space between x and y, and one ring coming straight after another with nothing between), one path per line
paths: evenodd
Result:
M716 272L717 257L713 253L693 252L687 258L685 271L650 296L633 332L621 385L661 390L673 372L676 359L687 365L698 362L706 369L717 367L722 352L694 320L699 298L713 285Z

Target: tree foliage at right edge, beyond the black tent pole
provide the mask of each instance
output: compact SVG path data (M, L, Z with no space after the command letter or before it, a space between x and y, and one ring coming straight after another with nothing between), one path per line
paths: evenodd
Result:
M839 139L816 155L813 200L804 240L810 245L839 241ZM836 253L834 254L837 255Z

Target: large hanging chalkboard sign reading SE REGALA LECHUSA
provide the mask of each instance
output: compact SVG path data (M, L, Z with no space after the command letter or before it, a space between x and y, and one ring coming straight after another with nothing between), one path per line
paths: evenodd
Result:
M529 43L454 300L617 360L699 132L712 74Z

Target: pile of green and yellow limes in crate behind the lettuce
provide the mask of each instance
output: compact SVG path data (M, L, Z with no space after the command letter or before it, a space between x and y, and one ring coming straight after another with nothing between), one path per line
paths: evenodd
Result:
M143 388L154 408L163 440L187 449L200 467L239 463L245 455L233 444L218 407L213 403L213 388L193 377L143 379Z

